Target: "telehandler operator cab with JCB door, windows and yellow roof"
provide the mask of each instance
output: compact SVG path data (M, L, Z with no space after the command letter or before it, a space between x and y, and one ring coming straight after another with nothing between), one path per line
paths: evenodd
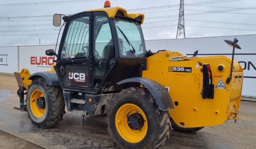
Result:
M116 83L141 77L146 49L141 29L144 14L106 7L64 16L56 73L64 91L97 94L122 90ZM60 15L54 25L60 26Z

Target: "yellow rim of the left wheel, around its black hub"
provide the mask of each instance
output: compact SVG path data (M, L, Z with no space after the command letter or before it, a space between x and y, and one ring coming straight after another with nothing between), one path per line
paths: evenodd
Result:
M44 97L44 94L41 90L34 90L31 93L30 96L30 107L31 107L31 111L32 113L36 116L36 117L42 117L45 113L45 108L44 109L40 109L37 106L37 99L39 97Z

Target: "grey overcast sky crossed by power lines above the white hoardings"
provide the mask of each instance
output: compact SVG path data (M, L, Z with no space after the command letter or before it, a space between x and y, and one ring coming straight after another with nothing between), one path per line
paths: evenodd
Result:
M146 40L176 37L180 0L110 2L145 14ZM41 44L54 44L59 27L51 25L53 14L74 14L103 5L103 0L1 0L0 46L38 45L39 39ZM184 13L186 38L256 34L255 0L184 0Z

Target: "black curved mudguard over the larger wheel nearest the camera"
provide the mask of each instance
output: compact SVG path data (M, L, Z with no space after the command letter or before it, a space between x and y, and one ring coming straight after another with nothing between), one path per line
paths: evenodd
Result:
M149 92L152 94L152 96L154 97L160 110L167 111L174 108L172 98L169 95L168 91L164 86L162 86L158 82L151 79L147 79L147 78L135 77L135 78L124 79L120 82L117 82L116 84L120 85L123 83L130 83L130 82L139 82L145 88L147 88Z

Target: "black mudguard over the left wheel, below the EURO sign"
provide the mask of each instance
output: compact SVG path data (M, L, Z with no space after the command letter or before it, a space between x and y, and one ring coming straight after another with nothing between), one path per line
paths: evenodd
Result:
M49 86L60 85L60 81L56 73L53 72L38 72L30 75L29 80L33 80L37 77L42 77L46 80Z

